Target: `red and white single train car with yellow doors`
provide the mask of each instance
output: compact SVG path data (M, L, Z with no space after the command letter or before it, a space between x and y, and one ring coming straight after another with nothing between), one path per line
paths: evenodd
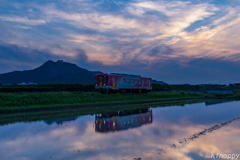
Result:
M100 92L144 92L152 91L152 78L131 74L96 74L95 89Z

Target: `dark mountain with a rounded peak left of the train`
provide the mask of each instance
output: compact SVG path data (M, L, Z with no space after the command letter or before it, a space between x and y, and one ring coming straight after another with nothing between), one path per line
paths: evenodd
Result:
M33 70L14 71L0 74L0 83L17 84L22 82L33 82L37 84L89 84L94 83L95 75L102 73L93 72L78 67L76 64L67 63L62 60L45 62L42 66Z

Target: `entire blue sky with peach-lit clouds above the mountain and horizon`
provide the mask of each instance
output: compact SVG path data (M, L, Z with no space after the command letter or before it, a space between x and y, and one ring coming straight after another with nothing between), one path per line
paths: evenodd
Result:
M60 59L170 84L240 82L240 1L0 0L0 73Z

